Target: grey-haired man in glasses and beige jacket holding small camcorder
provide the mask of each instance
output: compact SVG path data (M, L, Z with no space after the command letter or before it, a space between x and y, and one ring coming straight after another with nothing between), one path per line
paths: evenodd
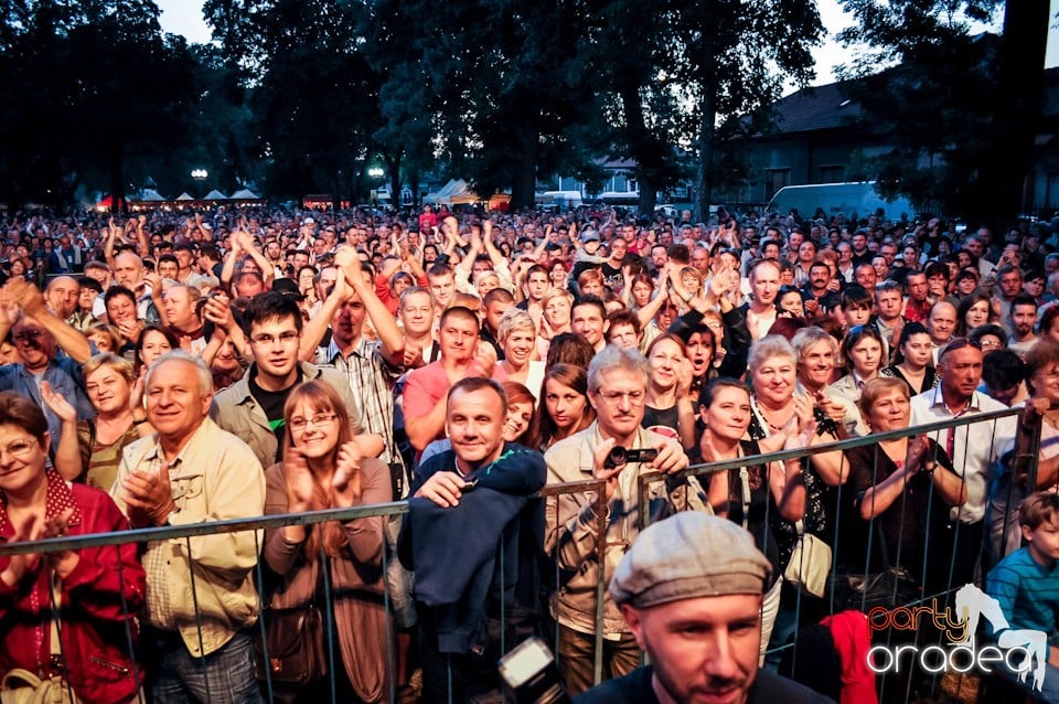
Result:
M596 492L560 494L547 500L545 550L559 569L552 614L559 623L559 663L567 690L576 694L593 681L597 570L610 579L644 519L639 505L641 474L673 474L688 465L677 440L641 427L649 376L648 361L635 350L603 348L588 366L588 397L596 422L555 444L545 454L548 483L606 480L607 534L603 554L596 553L599 500ZM652 482L643 512L676 508L705 510L705 495L694 479ZM603 676L621 676L640 664L640 649L618 607L607 598L603 610Z

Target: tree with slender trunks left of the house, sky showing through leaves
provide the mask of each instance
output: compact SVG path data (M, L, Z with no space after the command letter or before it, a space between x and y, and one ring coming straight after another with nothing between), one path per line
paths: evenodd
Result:
M735 146L761 126L742 116L778 98L785 78L812 78L810 49L823 31L815 4L589 0L589 7L599 36L586 45L590 72L609 88L612 153L637 162L640 211L653 212L655 192L684 175L683 152L694 154L695 212L703 220L717 163L734 178Z

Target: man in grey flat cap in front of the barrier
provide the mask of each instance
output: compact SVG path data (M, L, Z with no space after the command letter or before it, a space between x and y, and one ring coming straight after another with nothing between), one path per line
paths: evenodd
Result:
M831 702L758 670L770 568L750 533L725 519L685 511L649 526L614 569L610 596L651 664L575 704Z

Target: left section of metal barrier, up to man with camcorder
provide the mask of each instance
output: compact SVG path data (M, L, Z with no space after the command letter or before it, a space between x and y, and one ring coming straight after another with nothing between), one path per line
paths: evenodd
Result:
M603 481L586 480L586 481L569 482L564 484L547 486L537 493L537 498L542 499L542 501L547 501L549 497L557 497L557 495L567 494L567 493L584 493L584 492L595 493L596 497L600 497L602 494L603 484L605 484ZM543 514L543 509L544 509L544 505L542 503L541 504L542 514ZM163 527L154 527L154 529L137 529L137 530L124 531L120 533L97 533L97 534L90 534L90 535L64 536L64 537L49 538L49 540L34 541L34 542L3 543L3 544L0 544L0 557L29 554L29 553L47 554L47 553L55 553L55 552L63 552L63 551L76 551L85 547L98 547L98 546L109 546L109 545L117 546L117 545L125 545L128 543L146 544L150 542L172 541L172 540L185 541L186 550L189 551L189 554L192 554L191 553L192 537L201 536L201 535L213 535L217 533L234 533L234 532L243 532L243 531L255 531L255 541L258 547L257 552L258 552L258 555L260 556L263 552L261 551L263 534L260 533L261 531L276 530L276 529L280 529L288 525L307 525L307 526L317 525L317 524L322 524L329 521L346 522L355 519L364 519L364 518L373 518L373 516L383 516L383 518L398 516L398 515L404 515L406 513L408 513L408 502L395 501L391 503L353 506L349 509L329 509L323 511L308 511L304 513L277 514L277 515L258 516L253 519L214 521L208 523L196 523L192 525L163 526ZM607 527L606 505L602 505L601 501L600 501L599 510L597 513L600 516L597 525L595 526L596 527L596 546L597 546L596 550L598 552L602 545L601 541L603 535L606 534L606 527ZM454 536L453 540L459 540L459 536ZM382 566L381 566L382 575L386 575L387 568L389 566L389 561L396 558L396 555L391 554L391 551L387 550L386 542L387 541L384 534L384 537L383 537L384 545L382 551ZM328 563L325 559L325 555L322 553L322 551L323 551L323 545L321 542L321 555L322 557L324 557L321 564L322 564L322 568L327 570ZM503 552L501 552L500 559L501 559L500 573L503 574L504 573L503 564L504 564L504 561L506 559L506 556L503 554ZM261 567L263 561L264 561L264 557L259 557L257 566L254 569L255 584L257 586L258 594L263 594L264 591L263 589L264 570ZM598 573L599 573L599 576L597 579L597 589L596 589L596 621L602 622L603 591L606 589L606 584L603 582L603 570L600 569L598 570ZM331 582L330 579L323 580L324 596L325 596L324 605L323 605L324 617L328 623L332 622L333 620L333 599L331 594L330 582ZM396 666L397 655L396 655L396 647L395 647L395 643L393 642L394 640L393 634L396 631L393 627L393 612L391 610L392 595L389 591L389 584L385 578L383 579L383 587L384 587L383 602L386 611L386 633L387 633L386 672L388 678L388 690L389 690L387 701L395 702L397 697L397 683L395 681L396 669L397 669ZM502 594L503 594L503 587L504 585L501 584ZM261 600L261 604L264 605L264 599ZM132 612L132 610L129 609L126 604L122 604L122 606L125 607L127 619L131 622L131 619L136 617L136 614ZM502 604L501 604L502 623L505 621L506 615L507 612L505 610L505 605L503 604L503 599L502 599ZM196 609L196 617L197 616L199 616L199 611ZM263 641L265 636L266 618L267 618L267 610L263 609L261 616L257 620L257 625L253 627L256 634L260 637ZM199 636L201 639L202 623L199 622L196 626L199 628ZM516 643L504 642L504 632L505 632L505 629L501 628L501 643L500 643L501 654L506 654L506 652L510 651L516 644ZM338 698L336 692L335 692L334 672L336 666L342 668L343 664L342 664L341 654L339 653L338 643L333 641L332 630L330 628L325 630L325 638L327 638L325 652L329 661L328 676L330 680L330 690L331 690L330 701L332 702L332 704L334 704L334 703L341 702L341 700ZM597 682L599 682L602 676L602 651L603 651L602 641L603 641L602 629L597 629L596 662L595 662ZM131 631L129 631L128 643L131 652L132 671L136 672L138 669L142 668L142 663L139 658L140 653L138 653L137 650L132 649L131 647L132 646ZM553 653L558 653L558 625L557 623L555 623L555 629L554 629L554 633L552 634L549 646L552 648ZM264 653L264 657L267 661L268 660L267 651ZM449 681L451 682L451 678L449 678ZM208 687L208 683L207 683L207 687ZM261 690L266 701L268 702L276 701L276 692L275 692L274 683L271 681L270 675L266 679L265 682L261 683ZM208 693L208 690L207 690L207 693ZM449 691L448 700L452 704L458 704L452 696L451 689ZM147 701L146 695L143 694L142 691L139 693L138 701L141 704L143 704Z

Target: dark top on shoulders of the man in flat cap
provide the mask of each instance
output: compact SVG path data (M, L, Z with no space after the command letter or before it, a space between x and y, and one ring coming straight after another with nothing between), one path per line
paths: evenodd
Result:
M637 668L623 678L609 680L574 697L574 704L659 704L651 679L651 665ZM747 704L827 704L834 700L810 690L803 684L781 678L768 670L758 670Z

